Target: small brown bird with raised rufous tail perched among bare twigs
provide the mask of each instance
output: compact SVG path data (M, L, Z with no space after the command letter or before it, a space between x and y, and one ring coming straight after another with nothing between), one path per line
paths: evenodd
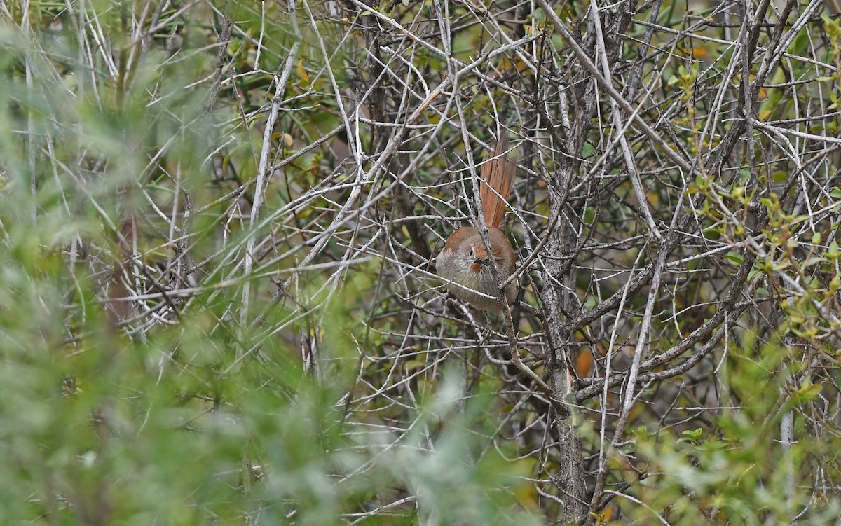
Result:
M493 158L486 160L480 175L479 201L482 203L484 223L488 226L490 249L500 277L505 280L514 273L514 249L499 226L505 206L514 186L516 163L507 158L508 140L496 143ZM462 227L452 233L444 244L435 264L438 276L448 280L447 289L473 307L485 311L499 311L500 281L494 279L491 256L479 229ZM516 283L505 286L505 297L513 302L517 296Z

